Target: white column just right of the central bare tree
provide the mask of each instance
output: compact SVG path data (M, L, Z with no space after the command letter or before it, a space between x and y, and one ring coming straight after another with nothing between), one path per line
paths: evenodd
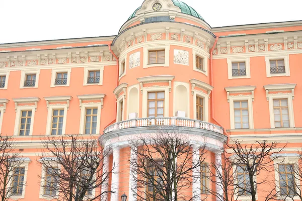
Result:
M199 147L193 145L193 156L192 156L192 166L198 163L199 159ZM199 201L201 200L201 189L200 189L200 167L193 169L193 185L192 185L192 195L195 196L194 200Z

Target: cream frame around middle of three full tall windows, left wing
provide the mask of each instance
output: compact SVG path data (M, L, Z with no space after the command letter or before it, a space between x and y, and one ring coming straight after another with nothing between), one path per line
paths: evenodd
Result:
M67 104L48 105L48 114L47 114L47 122L46 122L46 135L51 135L52 114L53 114L53 111L56 110L56 109L64 109L62 135L65 135L66 119L67 119Z

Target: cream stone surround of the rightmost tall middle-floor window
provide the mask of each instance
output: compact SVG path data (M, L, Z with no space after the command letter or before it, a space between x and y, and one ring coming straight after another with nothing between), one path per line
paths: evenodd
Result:
M293 103L291 93L268 93L269 119L271 128L275 128L273 99L287 98L289 127L294 128Z

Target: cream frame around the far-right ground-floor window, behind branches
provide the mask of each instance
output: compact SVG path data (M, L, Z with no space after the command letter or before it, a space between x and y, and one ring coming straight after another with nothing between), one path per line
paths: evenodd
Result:
M280 189L280 177L279 177L279 169L278 165L282 164L291 164L291 165L299 165L299 155L295 153L281 153L279 154L279 158L274 160L274 169L275 169L275 184L276 189ZM297 186L300 186L300 180L298 179L298 175L294 176L294 180L296 182ZM283 199L284 196L280 194L280 192L277 192L277 199ZM297 195L293 196L293 199L291 197L286 197L285 200L297 200L299 197Z

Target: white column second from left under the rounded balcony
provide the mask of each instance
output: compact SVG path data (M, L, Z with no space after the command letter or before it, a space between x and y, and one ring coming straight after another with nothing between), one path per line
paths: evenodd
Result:
M111 180L111 190L115 191L111 193L111 201L118 201L119 193L118 193L118 184L119 184L119 148L113 148L113 165L115 168L112 172L112 180Z

